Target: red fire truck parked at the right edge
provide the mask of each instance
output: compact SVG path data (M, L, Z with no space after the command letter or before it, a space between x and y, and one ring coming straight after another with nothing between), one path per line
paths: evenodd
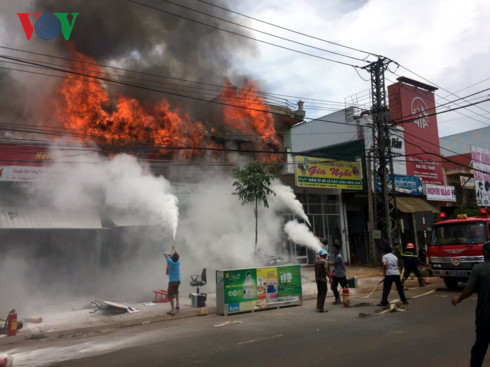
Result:
M478 217L458 214L457 219L446 219L441 213L427 251L432 275L443 278L449 289L466 282L473 265L483 262L482 245L490 240L489 226L486 209Z

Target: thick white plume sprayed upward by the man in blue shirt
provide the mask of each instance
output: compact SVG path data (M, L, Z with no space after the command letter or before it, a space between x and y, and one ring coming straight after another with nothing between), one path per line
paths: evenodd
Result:
M123 225L137 219L136 224L162 226L175 238L177 197L164 177L153 176L135 157L120 154L108 159L84 153L74 160L56 150L53 156L57 163L45 175L51 183L37 186L36 196L61 210L105 210ZM56 176L60 179L53 179Z

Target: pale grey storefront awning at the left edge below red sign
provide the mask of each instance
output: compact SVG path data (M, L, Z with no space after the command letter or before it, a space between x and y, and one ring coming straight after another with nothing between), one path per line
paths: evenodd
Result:
M45 207L0 207L0 229L98 228L102 228L102 224L95 210L62 211Z

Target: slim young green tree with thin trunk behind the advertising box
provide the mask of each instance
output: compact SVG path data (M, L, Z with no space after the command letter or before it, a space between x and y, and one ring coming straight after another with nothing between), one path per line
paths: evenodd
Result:
M259 212L258 203L262 201L264 207L269 207L267 201L268 195L276 195L274 191L270 189L272 181L279 177L279 170L276 166L266 166L259 161L253 161L245 166L243 169L236 167L233 169L233 186L235 186L235 192L233 195L237 195L242 205L255 203L255 252L257 252L257 233Z

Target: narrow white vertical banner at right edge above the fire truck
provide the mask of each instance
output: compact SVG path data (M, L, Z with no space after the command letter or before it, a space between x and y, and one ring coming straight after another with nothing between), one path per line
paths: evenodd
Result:
M490 151L471 147L471 159L475 177L476 203L478 206L490 206Z

